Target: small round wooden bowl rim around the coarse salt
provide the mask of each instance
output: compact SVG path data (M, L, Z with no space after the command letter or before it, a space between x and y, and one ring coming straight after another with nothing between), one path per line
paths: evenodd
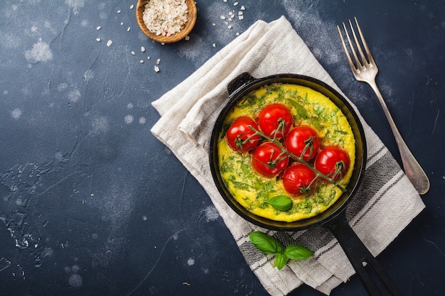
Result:
M186 26L177 33L171 34L169 36L163 36L163 35L156 35L155 33L152 33L148 28L146 28L144 23L144 10L145 10L145 4L147 4L149 1L147 0L139 0L137 1L136 5L136 20L139 24L139 27L141 28L142 32L144 32L145 35L149 36L150 39L155 40L159 43L173 43L179 40L182 40L183 38L192 31L193 26L195 26L196 22L196 4L194 0L186 0L186 4L188 7L188 16L187 16L187 23Z

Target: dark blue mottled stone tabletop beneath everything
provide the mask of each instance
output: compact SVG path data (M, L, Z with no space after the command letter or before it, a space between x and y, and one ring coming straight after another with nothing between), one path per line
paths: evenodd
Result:
M444 295L444 2L238 2L197 1L190 40L167 45L141 33L136 1L0 4L0 295L267 295L203 188L149 130L151 102L254 21L282 15L400 162L338 40L338 23L360 20L431 180L427 208L378 260L404 295ZM227 28L220 16L241 6ZM365 291L353 276L331 295Z

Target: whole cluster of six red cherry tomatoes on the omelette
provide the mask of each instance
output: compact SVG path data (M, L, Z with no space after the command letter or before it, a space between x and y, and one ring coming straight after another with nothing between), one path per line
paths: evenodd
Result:
M272 141L262 138L259 132ZM252 167L260 175L276 177L282 173L284 189L294 196L313 190L320 178L315 171L338 182L350 165L345 150L336 146L321 148L321 139L313 128L294 126L294 116L283 104L264 106L256 121L238 117L225 135L233 150L252 154ZM279 141L282 147L273 141Z

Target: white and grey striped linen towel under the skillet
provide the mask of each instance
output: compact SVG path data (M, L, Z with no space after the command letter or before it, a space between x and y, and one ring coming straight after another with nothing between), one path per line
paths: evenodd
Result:
M151 132L208 192L232 232L250 268L270 295L286 295L306 283L328 295L354 271L336 239L323 227L307 231L270 231L284 244L301 243L314 251L305 261L289 261L282 270L257 251L248 235L259 229L238 216L220 196L210 173L208 146L213 124L229 97L227 84L249 72L254 77L294 73L315 77L341 92L289 21L257 21L210 58L186 80L153 102L161 119ZM368 164L358 193L350 202L350 225L377 256L424 209L424 204L382 141L360 119L368 143Z

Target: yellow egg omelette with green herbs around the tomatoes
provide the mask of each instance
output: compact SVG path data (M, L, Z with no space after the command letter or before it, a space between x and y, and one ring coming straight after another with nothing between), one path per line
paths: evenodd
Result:
M263 177L252 168L251 153L240 153L227 143L225 131L239 116L257 117L262 107L279 103L289 108L294 126L311 126L321 138L321 146L338 146L348 153L350 166L337 185L318 182L311 194L294 197L284 190L280 176ZM218 138L218 163L225 187L252 214L275 221L297 221L315 216L336 202L348 185L355 163L353 131L341 109L328 97L297 84L269 84L261 87L236 104L227 114ZM292 207L280 211L268 203L272 197L286 195Z

